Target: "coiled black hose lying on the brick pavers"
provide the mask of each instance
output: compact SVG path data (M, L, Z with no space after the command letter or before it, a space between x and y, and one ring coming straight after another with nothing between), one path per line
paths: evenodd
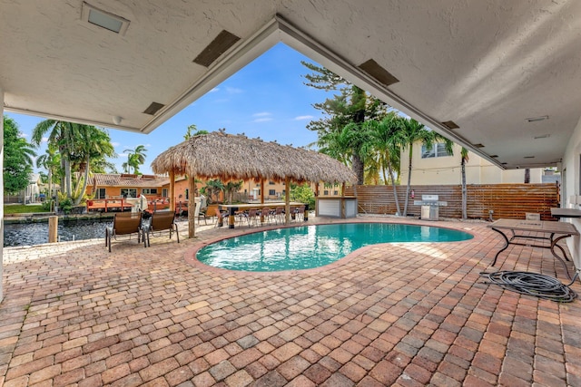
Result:
M578 273L573 277L571 284L575 282ZM569 285L562 284L552 276L544 276L537 273L522 271L497 271L493 273L480 273L489 282L483 284L495 284L505 289L520 293L521 295L534 295L539 298L555 301L557 303L570 303L576 298L576 293Z

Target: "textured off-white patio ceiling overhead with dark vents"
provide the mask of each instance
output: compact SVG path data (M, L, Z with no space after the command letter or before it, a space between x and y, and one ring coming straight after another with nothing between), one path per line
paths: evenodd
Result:
M147 133L282 41L505 168L556 164L579 121L578 1L87 3L125 34L84 22L82 1L0 1L6 110ZM240 39L194 63L224 30Z

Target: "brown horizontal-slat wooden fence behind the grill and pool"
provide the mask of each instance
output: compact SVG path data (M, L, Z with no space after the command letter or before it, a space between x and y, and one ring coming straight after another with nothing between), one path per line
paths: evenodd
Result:
M396 187L399 208L403 212L406 187ZM408 215L419 217L421 207L414 200L422 195L438 195L439 201L448 206L439 208L442 218L462 218L462 186L411 186L414 198L409 198ZM349 187L345 195L355 195L357 191L359 213L395 214L396 204L391 186ZM556 183L545 184L468 184L468 218L492 217L523 219L527 212L540 214L543 220L555 220L550 208L559 207L559 187Z

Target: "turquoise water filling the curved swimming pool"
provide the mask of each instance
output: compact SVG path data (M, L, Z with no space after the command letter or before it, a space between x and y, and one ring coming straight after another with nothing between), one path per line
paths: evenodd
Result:
M455 242L471 239L449 228L394 223L340 223L279 228L231 237L202 247L205 265L251 272L302 270L329 265L359 247L389 242Z

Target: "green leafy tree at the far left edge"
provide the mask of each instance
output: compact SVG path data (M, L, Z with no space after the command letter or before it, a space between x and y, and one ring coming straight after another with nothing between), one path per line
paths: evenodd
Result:
M36 153L31 144L20 136L18 124L4 116L4 192L15 194L25 189L33 173Z

